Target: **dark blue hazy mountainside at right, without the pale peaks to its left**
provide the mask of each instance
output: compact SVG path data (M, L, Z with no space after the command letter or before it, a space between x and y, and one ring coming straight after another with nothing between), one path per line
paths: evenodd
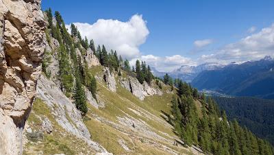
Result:
M274 60L229 64L221 69L202 71L192 82L199 90L217 91L229 95L274 98Z

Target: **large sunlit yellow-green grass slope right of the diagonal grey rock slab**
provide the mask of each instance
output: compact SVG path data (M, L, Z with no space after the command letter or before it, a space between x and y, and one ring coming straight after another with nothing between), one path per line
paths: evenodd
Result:
M95 67L92 69L92 73L96 73L97 75L101 75L101 67ZM123 72L123 76L125 72ZM92 106L88 105L90 110L88 111L88 117L91 118L89 121L85 121L90 134L92 134L92 140L99 142L103 147L105 147L109 152L113 152L114 154L125 154L125 150L121 147L117 141L119 139L124 139L127 147L132 150L131 154L168 154L166 152L162 152L159 148L156 147L148 147L145 144L146 137L142 137L138 135L139 139L132 138L128 136L121 130L116 130L113 128L111 124L101 123L94 118L94 115L99 117L103 117L114 123L119 123L117 117L125 117L129 115L134 117L135 119L139 119L145 121L148 126L150 126L153 132L159 134L160 136L164 137L165 139L169 139L174 141L173 137L176 136L173 132L171 126L163 126L160 121L165 121L161 116L164 115L162 111L169 113L170 112L170 105L172 94L164 93L164 95L153 95L150 97L146 97L144 101L140 101L137 97L132 95L129 91L123 88L119 84L119 77L116 78L117 82L117 91L113 93L106 88L104 82L99 82L97 80L97 93L103 99L105 103L105 108L100 108L99 110L93 108ZM166 89L170 89L168 86L163 88L165 92ZM148 118L144 115L137 115L136 111L147 111L154 115L156 118ZM137 135L136 133L132 132L132 135ZM140 138L142 137L142 138ZM177 150L180 153L190 154L188 150L184 147L175 147L172 143L164 143L162 141L158 141L158 143L163 143L166 146L172 147L174 150Z

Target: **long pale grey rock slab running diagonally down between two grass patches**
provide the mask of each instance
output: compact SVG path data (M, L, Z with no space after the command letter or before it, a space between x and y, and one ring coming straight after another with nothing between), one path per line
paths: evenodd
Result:
M90 140L90 133L82 121L81 113L71 99L66 97L60 88L54 82L47 80L44 75L41 75L38 80L36 96L47 104L53 118L66 132L86 141L88 147L96 152L107 152L101 145Z

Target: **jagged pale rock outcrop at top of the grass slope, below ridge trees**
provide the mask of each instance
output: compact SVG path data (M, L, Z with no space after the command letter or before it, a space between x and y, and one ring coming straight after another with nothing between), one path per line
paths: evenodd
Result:
M128 78L121 78L120 83L127 91L132 92L133 95L141 100L144 100L145 97L149 95L162 95L160 89L155 88L155 86L149 86L147 82L140 84L136 78L132 78L131 76Z

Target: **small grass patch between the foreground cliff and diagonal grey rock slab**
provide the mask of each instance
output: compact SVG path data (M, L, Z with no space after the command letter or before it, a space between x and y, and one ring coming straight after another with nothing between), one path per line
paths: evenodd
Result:
M24 147L23 154L77 154L77 152L82 152L84 154L91 154L92 150L82 147L86 145L84 141L78 139L73 134L66 132L61 126L58 125L57 121L51 115L50 109L42 102L41 99L36 99L33 104L32 112L27 119L27 124L30 126L34 132L42 130L41 119L47 117L53 125L53 132L47 134L42 133L42 140L36 141L36 139L30 139L27 136L28 143Z

